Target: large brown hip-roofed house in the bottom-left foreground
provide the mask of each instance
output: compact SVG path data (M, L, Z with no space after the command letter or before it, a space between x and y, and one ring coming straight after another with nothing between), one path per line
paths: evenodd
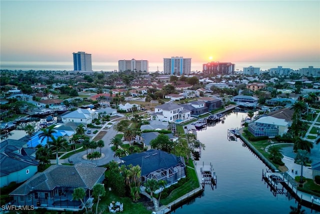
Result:
M92 188L104 180L106 168L91 164L51 165L25 183L14 189L9 195L11 205L33 205L35 208L78 211L83 209L79 200L72 199L75 188L83 188L83 201L92 202Z

